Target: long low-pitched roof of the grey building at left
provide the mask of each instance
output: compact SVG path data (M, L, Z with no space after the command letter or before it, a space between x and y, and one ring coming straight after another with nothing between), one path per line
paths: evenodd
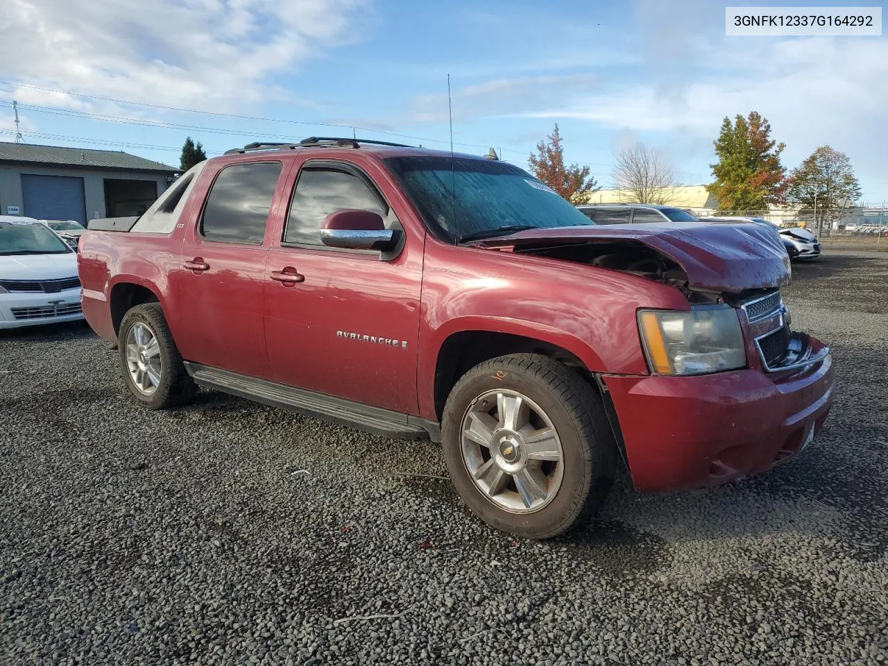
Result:
M129 171L178 171L169 164L130 155L122 150L92 150L91 148L63 148L33 146L24 143L0 141L0 163L50 164L87 169L122 169Z

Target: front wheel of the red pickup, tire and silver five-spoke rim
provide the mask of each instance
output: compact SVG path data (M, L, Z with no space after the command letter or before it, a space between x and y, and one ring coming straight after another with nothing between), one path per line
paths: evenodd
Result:
M517 416L503 416L510 413ZM465 373L448 396L441 440L464 503L512 535L566 533L604 503L614 479L616 443L599 393L537 354L501 356Z

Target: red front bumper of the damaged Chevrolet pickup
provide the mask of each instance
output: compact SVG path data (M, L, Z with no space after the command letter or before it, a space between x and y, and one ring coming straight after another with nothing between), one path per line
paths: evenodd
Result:
M602 379L640 490L717 486L765 472L807 446L833 400L829 354L772 374Z

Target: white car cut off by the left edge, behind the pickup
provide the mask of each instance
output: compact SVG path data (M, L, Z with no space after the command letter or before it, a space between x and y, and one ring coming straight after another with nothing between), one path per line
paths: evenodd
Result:
M0 329L79 319L77 253L36 219L0 215Z

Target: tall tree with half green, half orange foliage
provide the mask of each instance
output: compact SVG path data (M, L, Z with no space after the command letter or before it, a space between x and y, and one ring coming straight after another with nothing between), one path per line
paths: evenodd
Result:
M771 139L771 124L755 111L733 123L725 116L713 141L718 164L710 164L716 180L707 186L718 210L765 210L783 202L786 170L780 161L784 144Z

